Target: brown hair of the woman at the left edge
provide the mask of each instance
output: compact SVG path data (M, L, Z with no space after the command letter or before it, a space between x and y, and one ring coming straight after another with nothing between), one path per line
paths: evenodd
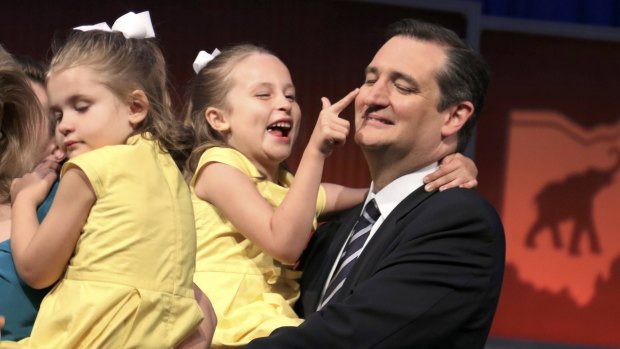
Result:
M9 201L11 181L36 165L33 140L47 137L44 122L26 75L0 46L0 203Z

